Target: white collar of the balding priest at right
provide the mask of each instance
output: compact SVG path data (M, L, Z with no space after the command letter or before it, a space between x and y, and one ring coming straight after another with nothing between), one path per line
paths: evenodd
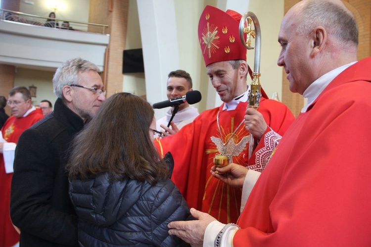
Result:
M315 99L317 99L322 91L325 90L328 84L330 84L330 82L335 79L335 77L337 77L341 72L343 72L345 69L355 64L356 62L357 61L351 62L336 69L333 69L318 78L311 85L309 85L309 87L303 93L303 97L308 98L308 103L304 106L303 109L301 109L301 112L306 112L308 107L314 102Z

